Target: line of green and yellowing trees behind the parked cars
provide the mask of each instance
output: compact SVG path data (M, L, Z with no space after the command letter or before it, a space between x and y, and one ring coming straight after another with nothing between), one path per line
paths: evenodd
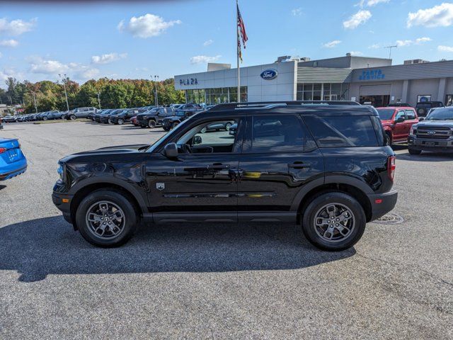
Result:
M0 101L4 104L22 104L25 113L59 110L67 111L64 86L66 86L69 110L84 106L99 108L137 108L155 105L157 88L159 105L185 103L184 91L175 90L174 79L151 81L147 79L91 79L79 85L67 78L62 82L17 81L6 79L6 90L0 89Z

